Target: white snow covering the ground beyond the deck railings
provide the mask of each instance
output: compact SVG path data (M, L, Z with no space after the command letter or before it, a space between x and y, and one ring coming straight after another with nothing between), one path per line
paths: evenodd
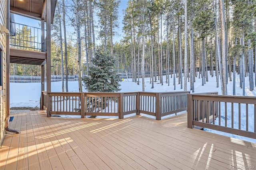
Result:
M232 75L233 78L233 75ZM196 82L194 84L195 93L203 93L203 92L215 92L218 91L219 94L221 94L220 87L216 87L216 77L211 77L210 73L208 73L208 79L209 81L202 86L202 79L198 79L196 77ZM159 80L157 82L154 82L154 89L151 89L150 79L145 79L145 91L147 92L166 92L166 91L184 91L184 89L180 89L180 84L178 84L178 79L176 78L176 90L174 90L173 85L173 78L170 79L170 86L165 82L166 76L163 76L164 84L161 85L159 83ZM142 79L140 79L140 85L137 85L137 83L132 82L132 79L124 79L120 84L120 88L122 89L121 92L130 92L130 91L142 91ZM249 81L248 77L245 77L245 93L246 96L256 96L256 87L254 87L253 91L249 90ZM45 84L46 85L46 84ZM219 83L220 85L220 83ZM190 82L187 84L188 90L190 89ZM239 75L236 74L236 95L242 95L242 89L239 87ZM183 85L184 87L184 85ZM46 88L45 88L46 89ZM52 82L52 88L53 92L61 92L61 82ZM69 92L78 92L78 81L69 81L68 82L68 89ZM10 107L39 107L40 106L40 93L41 91L41 83L10 83ZM84 92L86 90L84 89ZM233 95L233 81L228 81L228 95ZM249 117L250 122L254 120L254 115L250 114L253 113L253 106L249 106ZM223 121L222 119L221 121ZM216 119L215 123L217 124L218 120ZM242 119L241 125L245 125L245 119ZM234 120L234 127L238 125L238 120ZM231 120L228 123L228 127L231 127ZM250 123L249 130L254 129L254 123ZM216 130L211 129L205 129L209 132L214 132L218 134L222 134L225 136L230 136L234 138L239 138L242 140L247 140L250 142L256 143L256 140L251 138L246 138L238 135L233 134L227 134L224 132L219 132Z

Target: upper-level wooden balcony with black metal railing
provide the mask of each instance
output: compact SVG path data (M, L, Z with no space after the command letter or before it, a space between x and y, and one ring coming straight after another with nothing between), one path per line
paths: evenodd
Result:
M10 36L10 63L44 65L46 63L46 30L11 22L16 29Z

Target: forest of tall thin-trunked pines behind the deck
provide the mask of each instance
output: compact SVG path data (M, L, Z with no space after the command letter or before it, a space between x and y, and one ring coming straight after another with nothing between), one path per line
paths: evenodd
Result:
M170 89L178 83L182 90L194 92L195 77L205 85L215 76L216 87L227 95L234 72L240 75L243 95L246 76L250 91L254 89L256 0L128 0L123 28L118 8L120 0L58 0L52 25L53 75L78 75L82 91L82 74L92 66L96 49L102 49L114 56L116 69L126 69L132 81L142 82L143 91L145 71L151 73L152 88L159 80ZM116 36L122 40L113 42ZM38 66L11 68L10 74L16 75L40 72ZM64 76L62 85L64 91ZM233 95L235 86L233 81Z

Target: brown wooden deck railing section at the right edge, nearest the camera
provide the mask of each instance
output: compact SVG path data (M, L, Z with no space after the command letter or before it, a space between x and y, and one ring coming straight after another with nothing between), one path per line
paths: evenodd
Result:
M188 128L194 126L256 138L256 97L189 94Z

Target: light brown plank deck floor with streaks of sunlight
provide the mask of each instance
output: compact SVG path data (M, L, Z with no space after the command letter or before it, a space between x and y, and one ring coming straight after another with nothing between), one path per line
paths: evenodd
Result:
M256 169L256 144L187 128L186 114L161 121L12 113L0 169ZM246 167L248 166L248 167Z

